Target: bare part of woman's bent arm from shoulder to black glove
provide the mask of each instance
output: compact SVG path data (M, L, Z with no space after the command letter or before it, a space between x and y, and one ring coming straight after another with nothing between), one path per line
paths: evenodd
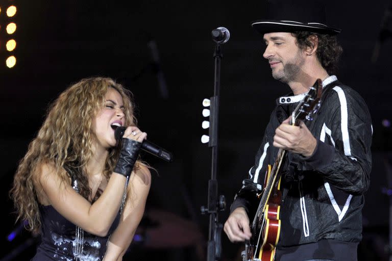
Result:
M38 191L41 203L52 205L63 217L83 230L97 236L106 236L115 219L125 187L126 177L113 173L102 195L93 204L82 197L70 185L63 182L55 166L45 163L40 166ZM40 188L42 190L40 190Z

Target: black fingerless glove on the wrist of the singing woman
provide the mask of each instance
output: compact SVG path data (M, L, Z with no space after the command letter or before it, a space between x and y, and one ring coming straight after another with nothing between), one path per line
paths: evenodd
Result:
M122 139L122 148L114 172L126 177L131 175L140 148L141 142L126 138Z

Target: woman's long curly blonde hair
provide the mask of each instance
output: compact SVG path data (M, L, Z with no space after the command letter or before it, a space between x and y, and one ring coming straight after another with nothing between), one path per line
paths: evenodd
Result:
M41 227L39 201L36 184L42 163L53 163L57 173L66 166L76 166L74 176L79 181L80 194L88 199L86 163L92 156L95 134L92 121L103 108L108 88L117 90L124 103L125 125L135 126L132 93L114 80L105 77L90 77L71 85L48 108L46 119L37 137L21 159L14 176L10 196L16 210L16 221L24 220L26 228L38 233ZM110 149L105 163L104 175L111 175L119 155L119 146ZM136 164L135 168L138 168ZM63 182L69 182L67 174L60 174ZM27 221L27 222L26 222Z

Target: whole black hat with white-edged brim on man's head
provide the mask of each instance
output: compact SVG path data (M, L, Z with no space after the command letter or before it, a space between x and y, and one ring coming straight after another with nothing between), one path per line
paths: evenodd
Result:
M307 0L269 1L265 19L252 21L259 33L308 31L336 35L340 29L328 27L323 2Z

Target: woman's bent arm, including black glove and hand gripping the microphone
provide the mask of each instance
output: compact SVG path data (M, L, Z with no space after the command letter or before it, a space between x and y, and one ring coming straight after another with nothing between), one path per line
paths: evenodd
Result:
M93 204L79 195L70 185L64 182L67 174L60 171L53 163L43 163L38 175L38 189L42 204L51 204L63 217L81 227L83 230L104 237L117 216L127 177L131 174L137 159L141 142L147 136L139 132L135 126L127 127L121 142L120 156L108 184ZM93 173L92 173L93 174ZM43 200L42 200L43 198Z

